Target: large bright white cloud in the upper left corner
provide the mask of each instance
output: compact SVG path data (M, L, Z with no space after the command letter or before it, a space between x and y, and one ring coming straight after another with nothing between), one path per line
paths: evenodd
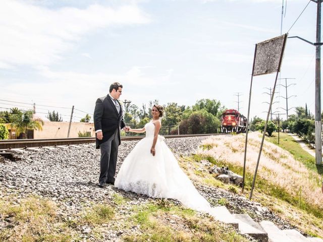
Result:
M0 68L49 65L84 35L109 26L149 23L136 5L50 10L15 0L0 8Z

